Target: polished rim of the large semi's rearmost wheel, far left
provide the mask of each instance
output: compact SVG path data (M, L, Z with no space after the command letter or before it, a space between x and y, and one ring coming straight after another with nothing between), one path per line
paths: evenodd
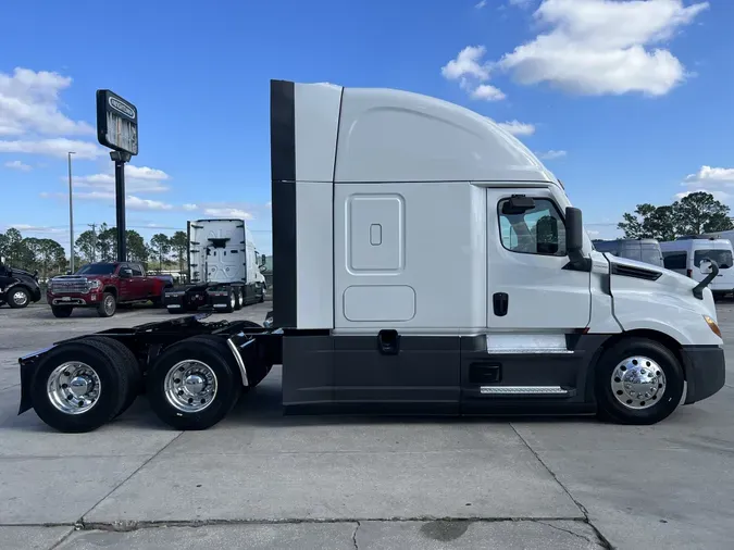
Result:
M57 366L48 378L49 401L65 414L84 414L99 401L102 384L86 363L70 361Z

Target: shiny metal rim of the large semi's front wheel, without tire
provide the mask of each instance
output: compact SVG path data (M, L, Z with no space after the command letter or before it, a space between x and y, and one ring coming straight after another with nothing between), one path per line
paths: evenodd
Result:
M611 376L614 398L625 408L639 411L655 405L665 393L665 373L646 357L621 361Z

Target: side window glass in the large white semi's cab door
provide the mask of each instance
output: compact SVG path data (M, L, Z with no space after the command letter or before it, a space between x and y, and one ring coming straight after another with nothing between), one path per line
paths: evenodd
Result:
M509 200L497 204L502 246L512 252L540 255L567 255L565 225L556 204L535 199L535 205L522 213L509 208Z

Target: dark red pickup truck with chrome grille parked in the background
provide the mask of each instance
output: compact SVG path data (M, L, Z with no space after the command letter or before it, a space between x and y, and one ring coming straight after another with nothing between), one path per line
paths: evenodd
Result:
M173 288L171 275L148 276L136 262L101 262L53 277L46 298L55 317L69 317L74 308L96 308L100 317L111 317L121 303L162 304L166 288Z

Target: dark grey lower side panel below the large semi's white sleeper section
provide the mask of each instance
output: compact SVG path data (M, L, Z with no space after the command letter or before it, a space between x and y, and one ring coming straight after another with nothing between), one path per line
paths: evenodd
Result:
M377 412L457 414L460 338L381 335L334 337L334 399Z

